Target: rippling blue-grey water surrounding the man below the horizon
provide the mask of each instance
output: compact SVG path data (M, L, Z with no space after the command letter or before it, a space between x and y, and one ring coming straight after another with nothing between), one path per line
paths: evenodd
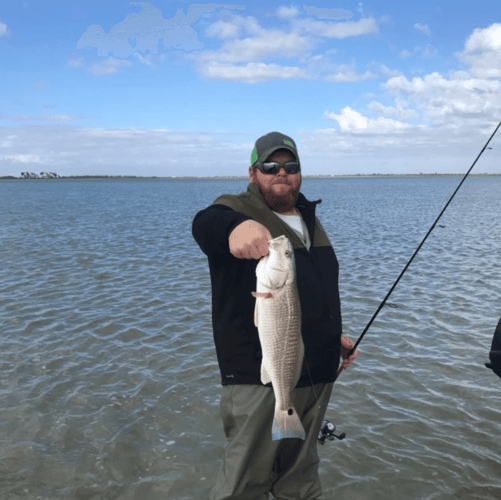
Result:
M358 338L459 177L309 180ZM0 498L208 498L224 434L195 213L234 180L0 183ZM469 178L334 386L323 498L501 498L501 177Z

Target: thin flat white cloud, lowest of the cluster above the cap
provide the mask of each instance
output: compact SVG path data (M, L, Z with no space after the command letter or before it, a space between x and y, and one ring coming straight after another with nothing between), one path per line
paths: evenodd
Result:
M204 76L210 79L242 83L310 78L307 71L297 66L281 66L279 64L253 62L247 63L244 66L236 66L212 61L209 64L205 64L201 71Z

